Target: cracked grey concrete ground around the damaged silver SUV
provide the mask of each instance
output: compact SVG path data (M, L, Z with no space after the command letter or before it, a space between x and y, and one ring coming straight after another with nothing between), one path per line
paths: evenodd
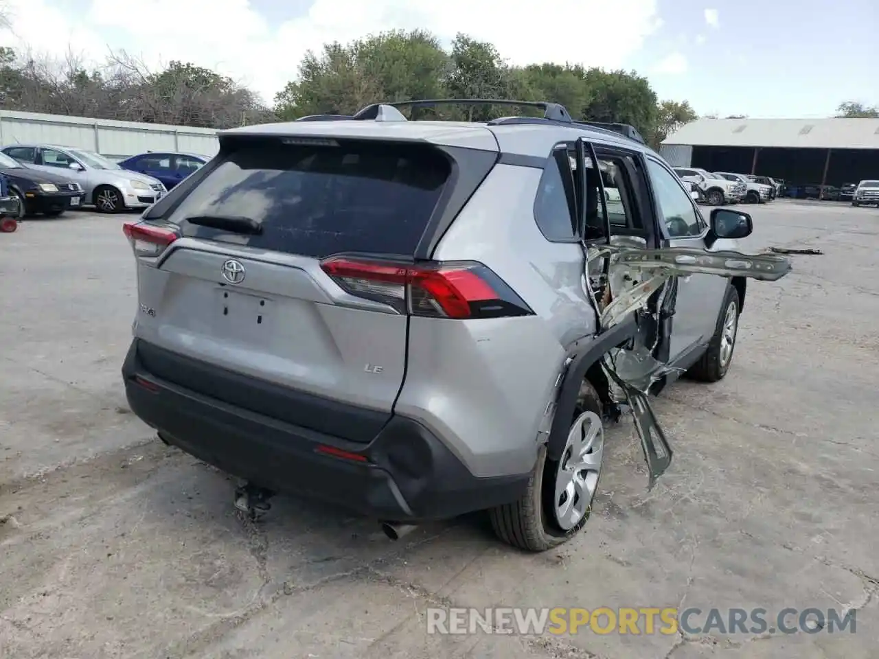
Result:
M284 497L243 520L229 478L156 441L126 407L123 218L70 214L0 235L0 656L875 657L879 210L747 210L752 249L825 254L749 284L725 380L657 399L676 452L657 487L646 491L624 417L586 531L539 555L500 544L480 516L397 543ZM452 605L762 607L770 620L854 607L857 626L426 634L425 608Z

